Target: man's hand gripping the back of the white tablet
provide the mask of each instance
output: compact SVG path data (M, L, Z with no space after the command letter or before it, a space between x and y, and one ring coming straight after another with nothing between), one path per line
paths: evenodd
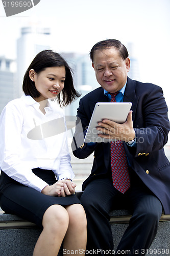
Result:
M132 111L129 112L125 123L116 123L108 119L104 119L98 123L96 127L101 131L98 136L101 138L108 138L113 140L122 140L125 142L131 141L135 138L135 131L133 129Z

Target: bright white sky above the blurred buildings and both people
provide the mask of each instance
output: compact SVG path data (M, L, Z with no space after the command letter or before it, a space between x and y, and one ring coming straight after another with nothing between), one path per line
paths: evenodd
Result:
M96 42L109 38L125 46L132 42L140 81L161 86L170 105L169 10L169 0L41 0L30 10L6 17L1 1L0 56L16 58L20 28L29 25L51 28L50 43L58 52L88 55Z

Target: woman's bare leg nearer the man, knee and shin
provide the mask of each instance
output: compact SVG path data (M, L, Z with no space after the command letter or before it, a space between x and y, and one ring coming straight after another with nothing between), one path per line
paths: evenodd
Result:
M65 209L69 216L69 225L64 238L64 254L84 255L87 242L87 221L81 204L72 204ZM71 253L72 252L72 253Z

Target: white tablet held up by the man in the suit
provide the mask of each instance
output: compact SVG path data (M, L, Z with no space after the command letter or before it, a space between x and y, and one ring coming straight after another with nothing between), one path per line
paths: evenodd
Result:
M101 131L96 130L98 123L104 119L112 120L116 123L124 123L131 109L131 102L98 102L95 104L90 123L87 129L84 142L107 142L110 139L98 136Z

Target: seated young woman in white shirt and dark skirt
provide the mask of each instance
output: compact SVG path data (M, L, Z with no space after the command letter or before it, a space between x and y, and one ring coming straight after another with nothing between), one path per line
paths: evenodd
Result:
M0 117L1 208L43 227L34 256L57 256L62 242L68 254L82 255L86 217L74 195L60 107L79 97L67 62L51 50L40 52L23 78L23 92Z

